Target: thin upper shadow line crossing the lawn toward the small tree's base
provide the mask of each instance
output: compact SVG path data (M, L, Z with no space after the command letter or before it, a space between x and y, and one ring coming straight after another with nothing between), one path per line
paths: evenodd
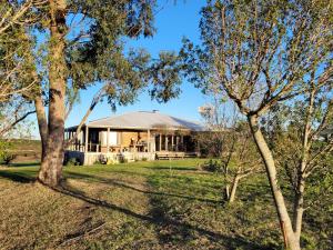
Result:
M162 196L162 197L174 197L174 198L186 199L186 200L195 200L195 201L201 201L201 202L212 203L212 204L221 203L221 201L212 200L212 199L143 190L143 189L139 189L139 188L132 187L130 184L127 184L124 182L117 181L117 180L109 179L109 178L101 178L101 177L90 176L90 174L85 174L85 173L70 172L70 171L68 171L67 173L69 173L69 176L68 176L69 178L97 181L97 182L100 182L100 183L103 183L103 184L111 184L111 186L115 186L115 187L120 187L120 188L125 188L125 189L130 189L130 190L133 190L133 191L137 191L137 192L145 193L145 194Z

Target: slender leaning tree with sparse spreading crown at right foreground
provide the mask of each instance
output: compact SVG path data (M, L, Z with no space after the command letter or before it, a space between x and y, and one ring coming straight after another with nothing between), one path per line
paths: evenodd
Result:
M332 6L329 1L216 0L209 1L201 14L202 47L185 41L182 50L188 77L201 88L216 79L216 88L246 116L265 166L285 247L300 249L301 212L295 219L300 222L293 223L260 118L278 102L313 96L314 89L331 84ZM306 107L309 116L312 104ZM300 174L306 168L309 132L315 126L305 120ZM297 193L303 189L303 181L299 181Z

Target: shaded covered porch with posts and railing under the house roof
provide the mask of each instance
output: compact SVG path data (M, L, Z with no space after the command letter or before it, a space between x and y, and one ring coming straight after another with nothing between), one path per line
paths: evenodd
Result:
M75 137L77 127L65 129L65 139ZM67 150L79 152L195 152L190 131L95 128L84 126Z

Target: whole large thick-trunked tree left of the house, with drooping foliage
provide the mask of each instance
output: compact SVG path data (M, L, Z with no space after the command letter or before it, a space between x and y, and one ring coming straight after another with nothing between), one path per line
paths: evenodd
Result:
M14 3L20 11L27 2ZM36 107L42 141L40 182L54 187L62 178L63 153L69 143L63 139L64 119L71 110L67 104L71 107L80 89L102 84L81 126L104 98L112 107L127 104L148 86L158 101L176 97L180 77L174 53L161 52L159 59L151 59L144 50L124 50L128 39L153 34L155 7L154 0L50 0L28 8L26 14L32 18L20 23L24 32L19 34L29 43L22 57L29 70L27 77L16 74L16 81L8 86L37 83L22 97ZM13 37L13 41L19 42L19 38ZM3 61L18 66L8 58Z

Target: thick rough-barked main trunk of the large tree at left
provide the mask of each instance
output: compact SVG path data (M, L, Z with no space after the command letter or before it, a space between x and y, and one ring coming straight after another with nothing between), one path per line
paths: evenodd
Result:
M50 187L62 178L65 101L65 0L50 0L49 124L39 180Z

